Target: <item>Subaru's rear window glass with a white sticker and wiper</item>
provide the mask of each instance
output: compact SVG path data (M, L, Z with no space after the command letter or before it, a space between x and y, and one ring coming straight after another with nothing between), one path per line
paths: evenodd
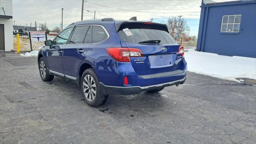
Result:
M160 40L159 44L173 44L175 40L168 34L166 26L160 24L132 23L123 24L117 32L123 42L143 43Z

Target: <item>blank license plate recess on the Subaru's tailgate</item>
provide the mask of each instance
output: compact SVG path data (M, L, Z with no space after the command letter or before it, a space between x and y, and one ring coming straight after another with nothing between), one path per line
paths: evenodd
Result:
M161 55L148 56L150 68L163 68L163 67L172 66L173 65L172 57L173 57L173 54L161 54Z

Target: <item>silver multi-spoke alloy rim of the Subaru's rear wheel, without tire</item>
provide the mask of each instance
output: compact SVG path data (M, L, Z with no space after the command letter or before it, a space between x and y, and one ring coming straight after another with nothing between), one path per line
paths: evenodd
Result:
M87 74L83 80L84 95L87 100L92 102L96 97L96 84L90 74Z

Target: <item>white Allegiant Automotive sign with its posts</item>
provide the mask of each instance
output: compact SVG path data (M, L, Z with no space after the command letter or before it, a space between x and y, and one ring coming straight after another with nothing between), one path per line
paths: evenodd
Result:
M32 51L32 42L44 42L45 40L47 40L45 31L29 32L30 50Z

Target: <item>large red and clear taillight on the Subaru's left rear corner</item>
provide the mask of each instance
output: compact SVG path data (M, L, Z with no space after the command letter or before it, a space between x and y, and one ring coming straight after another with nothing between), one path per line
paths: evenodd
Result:
M108 54L118 62L130 62L130 57L141 57L142 52L138 48L106 48Z

